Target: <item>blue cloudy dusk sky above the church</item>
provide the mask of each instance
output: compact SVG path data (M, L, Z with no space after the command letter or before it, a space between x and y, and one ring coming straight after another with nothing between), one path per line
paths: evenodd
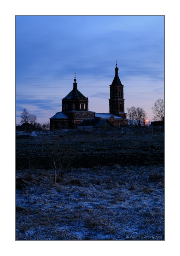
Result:
M153 121L164 99L164 16L16 16L16 124L24 108L49 121L72 89L89 110L109 113L109 85L124 85L125 112L140 107Z

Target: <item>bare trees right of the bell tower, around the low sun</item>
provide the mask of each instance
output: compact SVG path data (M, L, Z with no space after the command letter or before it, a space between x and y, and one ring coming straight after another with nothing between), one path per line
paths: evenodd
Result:
M142 108L135 108L132 106L131 108L127 108L127 116L129 118L129 125L146 125L148 124L146 112ZM158 99L153 107L153 114L154 118L157 119L157 121L162 121L164 117L164 100L163 99Z

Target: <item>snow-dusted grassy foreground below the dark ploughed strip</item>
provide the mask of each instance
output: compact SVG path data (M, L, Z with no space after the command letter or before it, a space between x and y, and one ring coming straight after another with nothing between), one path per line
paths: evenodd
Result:
M16 171L16 240L164 240L164 166Z

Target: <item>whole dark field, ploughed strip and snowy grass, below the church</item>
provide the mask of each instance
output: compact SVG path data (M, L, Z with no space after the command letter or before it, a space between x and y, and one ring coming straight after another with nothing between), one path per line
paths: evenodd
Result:
M17 132L16 240L164 240L162 129Z

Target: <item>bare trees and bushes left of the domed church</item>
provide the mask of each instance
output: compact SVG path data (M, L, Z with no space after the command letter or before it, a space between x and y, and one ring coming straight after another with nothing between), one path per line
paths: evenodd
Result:
M37 116L29 113L27 109L23 109L23 112L21 113L21 124L26 122L33 125L38 131L50 130L50 121L40 124L37 122Z

